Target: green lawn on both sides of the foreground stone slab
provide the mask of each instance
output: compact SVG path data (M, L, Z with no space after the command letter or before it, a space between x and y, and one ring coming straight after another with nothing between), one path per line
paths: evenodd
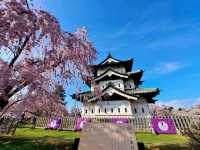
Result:
M0 136L0 150L70 150L78 132L18 128L15 137ZM137 133L149 150L187 150L188 138L180 135Z

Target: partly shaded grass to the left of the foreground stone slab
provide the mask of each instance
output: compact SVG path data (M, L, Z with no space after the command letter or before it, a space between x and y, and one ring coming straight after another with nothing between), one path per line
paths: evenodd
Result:
M0 136L0 150L71 150L78 132L17 128L15 136Z

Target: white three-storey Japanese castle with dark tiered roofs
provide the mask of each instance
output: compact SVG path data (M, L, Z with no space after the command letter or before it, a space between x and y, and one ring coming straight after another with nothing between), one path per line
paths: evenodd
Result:
M143 70L133 71L133 59L121 61L109 54L93 69L93 80L87 80L90 91L74 94L83 103L82 117L148 117L150 103L160 93L159 88L140 88ZM94 92L98 86L101 98Z

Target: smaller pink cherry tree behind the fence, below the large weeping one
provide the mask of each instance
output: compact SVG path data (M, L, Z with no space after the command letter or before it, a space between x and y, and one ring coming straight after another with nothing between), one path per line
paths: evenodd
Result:
M64 101L54 93L46 93L45 95L43 93L38 93L37 96L29 94L28 97L27 99L26 95L20 95L20 98L24 98L24 100L13 105L13 107L9 109L9 112L17 116L22 112L28 112L42 117L51 117L53 114L59 116L68 115Z

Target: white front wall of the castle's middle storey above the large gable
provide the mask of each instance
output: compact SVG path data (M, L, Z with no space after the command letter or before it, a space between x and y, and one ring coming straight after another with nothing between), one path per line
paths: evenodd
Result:
M120 80L100 81L99 82L99 87L103 90L108 86L109 82L113 83L116 88L124 91L124 81L121 80L121 79Z

